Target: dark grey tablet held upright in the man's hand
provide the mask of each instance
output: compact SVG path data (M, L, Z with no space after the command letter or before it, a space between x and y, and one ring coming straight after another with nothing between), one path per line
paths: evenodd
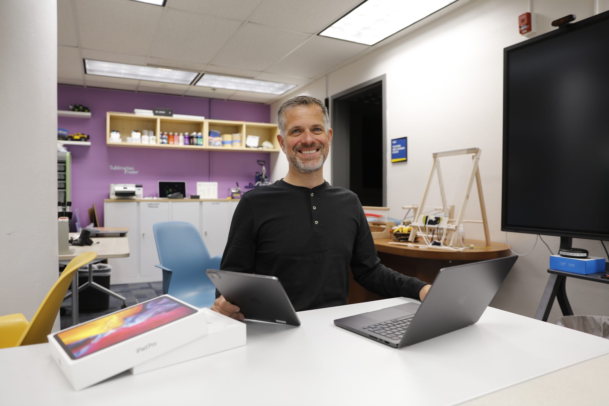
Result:
M222 296L239 306L245 318L300 326L292 302L275 276L215 269L206 273Z

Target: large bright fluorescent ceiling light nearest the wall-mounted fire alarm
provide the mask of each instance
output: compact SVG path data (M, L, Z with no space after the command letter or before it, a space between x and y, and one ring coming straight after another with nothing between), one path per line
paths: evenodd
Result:
M319 35L374 45L455 1L367 0Z

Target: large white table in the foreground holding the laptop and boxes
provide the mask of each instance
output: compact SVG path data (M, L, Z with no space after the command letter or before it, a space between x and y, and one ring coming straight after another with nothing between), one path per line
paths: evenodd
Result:
M79 392L48 344L0 349L0 404L451 405L609 353L609 340L491 307L477 324L402 349L333 324L407 301L300 312L300 327L248 322L244 347Z

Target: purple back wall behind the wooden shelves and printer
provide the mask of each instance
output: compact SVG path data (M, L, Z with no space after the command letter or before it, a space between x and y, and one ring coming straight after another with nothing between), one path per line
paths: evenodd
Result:
M196 194L197 182L211 181L218 183L218 197L225 198L228 188L233 187L235 182L239 182L243 188L254 181L255 172L260 170L257 159L267 161L267 173L270 173L269 153L108 148L106 145L107 111L133 113L134 108L152 110L167 107L173 108L175 114L269 122L269 105L58 86L58 110L68 110L68 105L73 103L85 105L92 112L90 119L57 117L58 128L66 128L70 134L81 132L91 136L90 147L67 146L72 153L72 208L79 209L83 223L88 219L87 209L95 203L99 221L104 224L104 199L110 193L110 183L142 184L144 196L158 196L160 180L186 181L188 195ZM111 166L133 167L138 173L125 174L124 170L110 170Z

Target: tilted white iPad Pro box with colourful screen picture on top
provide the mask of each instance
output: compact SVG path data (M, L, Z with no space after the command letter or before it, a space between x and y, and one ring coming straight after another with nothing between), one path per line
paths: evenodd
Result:
M81 390L207 332L202 309L163 295L48 338L53 359L72 387Z

